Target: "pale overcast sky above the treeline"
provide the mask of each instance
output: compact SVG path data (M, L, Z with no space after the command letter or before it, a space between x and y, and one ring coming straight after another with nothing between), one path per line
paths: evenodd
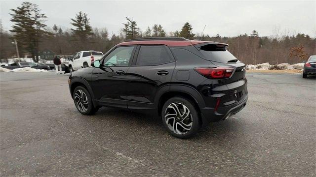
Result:
M5 30L12 26L10 9L22 1L0 2L0 18ZM70 19L79 11L90 18L93 28L107 28L118 34L125 17L135 20L145 31L148 26L161 24L169 33L181 30L189 22L195 33L206 25L205 34L236 36L257 30L260 36L295 34L316 36L316 0L310 1L88 1L30 0L46 14L46 25L71 28Z

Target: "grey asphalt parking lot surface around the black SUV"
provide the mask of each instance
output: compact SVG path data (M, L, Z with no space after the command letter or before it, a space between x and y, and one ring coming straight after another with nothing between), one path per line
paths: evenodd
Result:
M316 175L316 79L247 73L249 99L197 136L171 137L150 115L83 116L67 75L0 73L0 175Z

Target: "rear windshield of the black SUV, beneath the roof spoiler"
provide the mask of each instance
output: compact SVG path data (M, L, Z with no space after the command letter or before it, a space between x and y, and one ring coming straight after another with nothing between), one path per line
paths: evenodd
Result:
M238 59L233 56L225 45L220 44L207 44L199 48L199 51L203 54L205 59L216 62L239 62Z

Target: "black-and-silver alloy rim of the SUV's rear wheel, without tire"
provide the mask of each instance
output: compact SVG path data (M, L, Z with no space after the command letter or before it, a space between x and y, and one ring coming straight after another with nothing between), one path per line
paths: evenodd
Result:
M165 122L174 133L183 135L191 130L193 118L190 110L182 103L171 103L164 112Z

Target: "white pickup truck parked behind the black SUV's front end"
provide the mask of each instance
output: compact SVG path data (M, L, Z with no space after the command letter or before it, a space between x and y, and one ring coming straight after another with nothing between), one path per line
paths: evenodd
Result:
M74 59L69 62L69 69L71 71L89 67L91 66L91 62L97 59L101 59L103 56L102 52L96 52L96 51L81 51L78 52Z

